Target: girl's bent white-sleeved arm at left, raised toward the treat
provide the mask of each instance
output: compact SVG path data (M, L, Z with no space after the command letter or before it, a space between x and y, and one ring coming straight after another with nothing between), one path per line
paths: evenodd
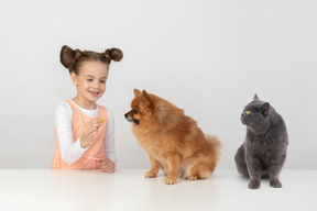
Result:
M89 148L80 146L80 138L74 142L72 130L73 112L67 102L62 102L55 110L55 127L62 158L67 164L77 162Z

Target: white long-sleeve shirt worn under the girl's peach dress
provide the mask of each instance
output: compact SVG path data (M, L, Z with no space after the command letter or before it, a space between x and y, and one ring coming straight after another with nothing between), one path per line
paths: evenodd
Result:
M76 104L74 101L72 101ZM86 110L80 108L83 113L90 118L96 118L98 114L98 107L95 110ZM116 156L116 148L114 148L114 118L111 110L108 108L108 127L105 135L105 156L111 159L117 165L117 156ZM73 130L72 130L72 120L73 120L73 111L70 106L63 101L61 104L55 109L55 127L56 133L59 142L59 149L62 158L67 164L73 164L77 162L84 153L89 148L83 148L80 146L80 137L78 140L73 140Z

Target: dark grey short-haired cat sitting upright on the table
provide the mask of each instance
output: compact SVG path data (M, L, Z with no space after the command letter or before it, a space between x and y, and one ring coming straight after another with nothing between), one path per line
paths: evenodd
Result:
M283 118L269 102L254 96L241 114L247 125L244 143L234 156L238 171L250 178L249 188L260 188L261 177L269 177L270 186L281 188L280 171L286 159L288 136Z

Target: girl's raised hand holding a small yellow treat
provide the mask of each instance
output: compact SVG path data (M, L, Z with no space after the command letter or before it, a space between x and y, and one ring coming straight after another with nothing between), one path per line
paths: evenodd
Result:
M92 142L94 137L96 136L99 126L101 125L102 123L100 122L100 120L92 120L83 125L81 127L83 135L80 137L80 146L83 148L87 148L89 146L89 144Z

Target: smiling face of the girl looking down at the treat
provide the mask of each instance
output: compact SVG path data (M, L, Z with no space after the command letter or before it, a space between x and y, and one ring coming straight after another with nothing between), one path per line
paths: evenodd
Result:
M79 75L72 73L73 84L77 87L74 99L84 109L94 109L96 101L105 93L108 78L108 65L100 62L85 62Z

